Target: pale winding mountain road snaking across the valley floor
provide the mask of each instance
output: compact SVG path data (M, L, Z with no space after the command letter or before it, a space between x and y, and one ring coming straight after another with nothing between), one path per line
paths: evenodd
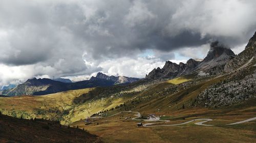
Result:
M132 113L136 113L136 117L132 118L132 120L143 120L143 119L137 119L137 118L140 118L141 117L141 114L140 112L137 112L137 111L121 111L121 112L118 112L118 113L115 113L114 115L112 116L109 116L109 117L113 117L113 116L116 116L118 115L119 113L123 113L123 112L132 112ZM201 121L201 120L204 120L204 121ZM236 123L230 123L230 124L226 124L226 125L235 125L235 124L241 124L241 123L245 123L245 122L249 122L249 121L253 121L253 120L256 120L256 117L254 118L250 118L250 119L247 119L247 120L244 120L244 121L240 121L240 122L236 122ZM158 121L163 121L163 123L165 122L170 122L169 120L160 120L160 118L156 118L156 119L145 119L143 120L145 122L158 122ZM191 122L195 122L195 121L201 121L201 122L197 122L195 123L196 125L201 125L201 126L214 126L214 125L208 125L208 124L204 124L208 121L212 121L212 119L206 119L206 118L202 118L202 119L194 119L194 120L190 120L190 121L187 121L187 122L184 122L184 123L179 123L179 124L170 124L170 125L154 125L154 124L158 124L158 123L146 123L143 125L143 127L164 127L164 126L179 126L179 125L185 125L185 124L188 124L188 123L191 123Z

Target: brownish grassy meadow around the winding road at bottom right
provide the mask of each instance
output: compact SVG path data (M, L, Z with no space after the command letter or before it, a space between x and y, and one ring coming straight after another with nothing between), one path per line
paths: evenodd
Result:
M197 118L214 119L215 123L211 122L209 124L217 126L204 127L188 124L172 127L138 128L136 122L139 121L125 120L126 117L135 117L133 113L122 113L111 118L95 119L90 125L84 125L84 123L78 121L73 123L72 126L86 128L108 142L253 142L255 140L255 121L236 126L219 125L247 119L252 116L253 112L244 113L243 115L228 113L225 116L210 116L206 115L208 111L210 110L194 108L184 109L176 113L172 112L169 115L167 112L161 111L158 114L173 117L174 119L169 124L175 124L191 120L180 119L180 116L185 117L194 113L194 117L197 116Z

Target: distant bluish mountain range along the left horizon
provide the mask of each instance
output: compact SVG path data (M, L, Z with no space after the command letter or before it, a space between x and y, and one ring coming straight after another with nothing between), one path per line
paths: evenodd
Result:
M2 95L18 96L18 95L46 95L68 90L78 90L94 87L109 87L114 84L127 84L135 82L139 78L125 76L107 76L98 73L96 77L91 77L90 80L72 82L70 79L49 79L49 78L32 78L22 84L18 84L12 89L1 91Z

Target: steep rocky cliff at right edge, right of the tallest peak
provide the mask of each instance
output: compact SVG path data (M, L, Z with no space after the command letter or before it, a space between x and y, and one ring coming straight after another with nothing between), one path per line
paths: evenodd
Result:
M224 67L224 72L231 72L247 62L255 60L256 58L256 32L253 37L249 40L248 44L241 53L239 53L235 58L228 61Z

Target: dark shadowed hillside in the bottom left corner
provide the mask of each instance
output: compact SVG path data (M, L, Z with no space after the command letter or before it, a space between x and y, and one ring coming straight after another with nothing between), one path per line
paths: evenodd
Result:
M96 135L58 122L0 115L0 142L102 142Z

